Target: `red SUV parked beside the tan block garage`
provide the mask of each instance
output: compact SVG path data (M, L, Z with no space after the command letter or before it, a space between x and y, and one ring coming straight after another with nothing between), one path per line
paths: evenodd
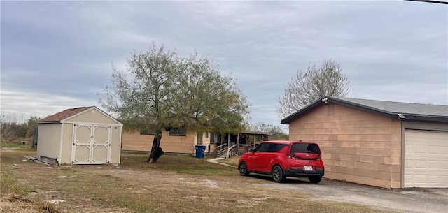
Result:
M309 182L321 182L325 168L321 149L314 142L273 140L262 142L238 162L239 174L250 172L272 175L274 182L286 177L308 177Z

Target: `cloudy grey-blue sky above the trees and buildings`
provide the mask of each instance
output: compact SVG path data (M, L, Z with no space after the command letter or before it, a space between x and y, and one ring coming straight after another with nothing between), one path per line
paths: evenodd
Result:
M1 1L1 111L99 105L111 64L155 42L237 78L251 123L280 125L299 68L334 59L351 96L448 105L448 7L412 1Z

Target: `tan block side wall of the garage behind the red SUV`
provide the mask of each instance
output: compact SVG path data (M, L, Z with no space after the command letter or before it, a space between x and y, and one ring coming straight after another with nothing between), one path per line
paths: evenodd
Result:
M401 186L401 122L329 103L290 122L290 140L318 143L325 177L386 188Z

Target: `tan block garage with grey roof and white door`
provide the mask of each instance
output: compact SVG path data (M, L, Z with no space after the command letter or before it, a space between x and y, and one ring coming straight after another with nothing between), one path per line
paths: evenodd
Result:
M448 105L323 97L281 120L321 147L325 176L385 188L448 187Z

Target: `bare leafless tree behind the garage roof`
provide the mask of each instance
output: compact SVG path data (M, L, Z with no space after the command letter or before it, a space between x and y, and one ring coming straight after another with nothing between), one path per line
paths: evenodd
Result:
M336 61L325 60L299 69L279 97L277 112L280 117L287 117L323 96L347 96L349 87L350 80Z

